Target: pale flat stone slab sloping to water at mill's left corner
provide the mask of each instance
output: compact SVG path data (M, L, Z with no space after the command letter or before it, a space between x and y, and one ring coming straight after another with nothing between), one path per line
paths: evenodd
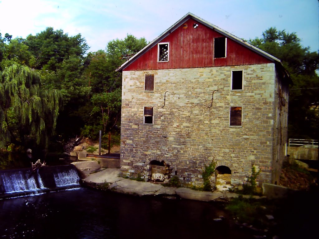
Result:
M104 169L99 172L93 173L84 179L88 183L113 183L124 178L118 177L120 169Z

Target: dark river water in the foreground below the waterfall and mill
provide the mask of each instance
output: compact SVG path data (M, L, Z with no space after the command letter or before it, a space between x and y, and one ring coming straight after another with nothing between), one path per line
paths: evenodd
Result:
M0 200L0 238L251 238L227 217L208 202L78 188Z

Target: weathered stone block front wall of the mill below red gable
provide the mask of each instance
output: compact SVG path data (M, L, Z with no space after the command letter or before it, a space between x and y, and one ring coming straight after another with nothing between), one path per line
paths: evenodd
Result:
M231 91L231 71L243 70L243 90ZM144 91L145 74L155 74L154 91ZM232 170L232 184L262 169L270 182L274 150L275 65L123 71L121 168L149 178L150 162L170 165L185 182L202 183L211 160ZM213 100L212 93L214 90ZM165 92L165 102L164 95ZM153 124L144 124L144 106ZM211 106L211 107L210 107ZM242 126L230 127L230 107L242 107Z

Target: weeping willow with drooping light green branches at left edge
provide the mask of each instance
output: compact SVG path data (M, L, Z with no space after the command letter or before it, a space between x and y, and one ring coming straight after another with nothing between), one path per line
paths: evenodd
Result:
M35 70L12 65L0 71L0 148L9 143L47 146L60 102L59 91L42 89Z

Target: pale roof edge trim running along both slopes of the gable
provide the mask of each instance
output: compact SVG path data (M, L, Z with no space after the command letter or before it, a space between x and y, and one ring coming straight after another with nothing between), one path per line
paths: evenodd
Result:
M257 47L254 47L253 45L249 44L248 42L241 40L240 38L234 36L231 33L228 33L226 31L224 31L223 29L219 28L218 26L215 26L207 21L205 21L202 18L197 17L196 15L192 14L192 13L187 13L184 17L182 17L180 20L178 20L174 25L172 25L170 28L168 28L164 33L160 34L157 38L155 38L152 42L150 42L147 46L145 46L142 50L140 50L139 52L137 52L137 54L135 54L134 56L132 56L129 60L127 60L126 62L124 62L119 68L116 69L116 71L120 71L122 72L122 70L129 66L132 62L136 61L141 55L143 55L146 51L148 51L150 48L152 48L153 46L155 46L157 43L159 43L162 39L164 39L165 37L167 37L167 35L169 35L170 33L172 33L175 29L177 29L178 27L180 27L182 24L184 24L187 20L189 19L194 19L197 22L211 28L212 30L226 36L227 38L230 38L234 41L236 41L237 43L249 48L250 50L256 52L257 54L260 54L262 56L264 56L265 58L267 58L268 60L271 60L275 63L279 63L280 67L283 67L280 60L274 56L272 56L271 54L268 54L260 49L258 49ZM288 75L288 74L287 74Z

